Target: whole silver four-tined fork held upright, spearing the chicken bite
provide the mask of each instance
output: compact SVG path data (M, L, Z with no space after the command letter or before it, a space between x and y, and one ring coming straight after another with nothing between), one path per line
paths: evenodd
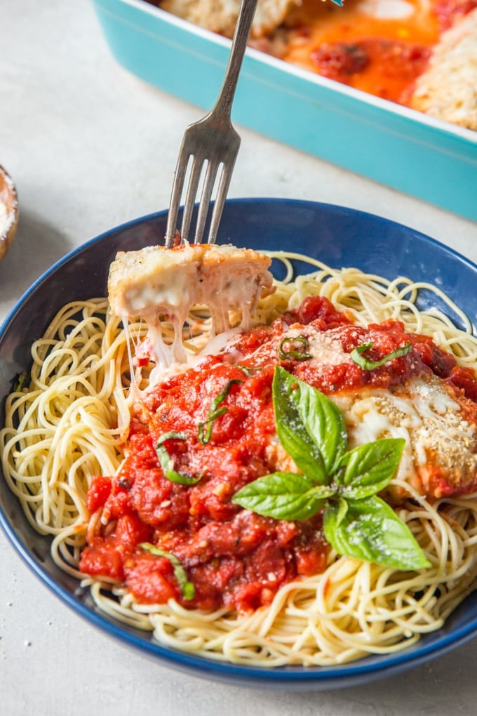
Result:
M169 216L167 217L165 236L165 246L167 248L173 246L174 236L178 229L177 216L179 214L180 200L189 164L190 178L182 213L182 226L180 228L181 242L183 243L189 238L195 198L199 188L202 170L205 168L193 242L202 243L205 223L212 198L212 190L217 179L220 165L222 165L207 242L215 243L215 239L217 238L220 218L240 147L240 135L237 134L232 126L230 113L232 112L232 102L235 97L237 80L240 74L240 68L242 67L245 49L247 49L247 40L256 7L257 0L242 0L234 37L232 39L229 62L225 71L225 79L222 84L222 89L220 89L217 102L209 114L202 120L189 125L185 130L184 137L182 137L182 145L180 147L179 158L177 159L172 195L169 203Z

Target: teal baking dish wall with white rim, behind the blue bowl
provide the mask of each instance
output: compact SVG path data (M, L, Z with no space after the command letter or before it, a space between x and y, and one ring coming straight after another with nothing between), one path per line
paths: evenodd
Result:
M144 0L92 1L109 48L125 69L202 110L212 108L230 40ZM247 49L232 119L477 221L477 132L254 49Z

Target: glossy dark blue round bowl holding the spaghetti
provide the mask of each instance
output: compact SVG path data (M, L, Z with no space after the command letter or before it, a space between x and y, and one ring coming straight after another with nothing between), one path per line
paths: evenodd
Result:
M116 252L162 243L166 222L167 212L161 212L114 228L69 253L31 286L0 329L2 398L11 391L16 376L29 368L31 342L40 337L54 313L68 301L106 295L109 263ZM218 241L308 253L338 269L355 266L388 279L408 276L436 284L466 311L476 331L477 266L398 223L308 201L238 199L228 201L225 206ZM296 269L300 271L299 264ZM435 296L423 292L421 307L432 303L436 303ZM439 308L446 310L445 306ZM2 399L0 425L4 422L3 404ZM397 654L366 657L334 667L258 669L217 663L162 647L149 633L99 613L89 593L51 560L49 539L34 532L3 480L0 480L0 524L36 576L89 624L162 664L208 679L287 691L355 686L417 667L477 633L476 593L468 596L442 629Z

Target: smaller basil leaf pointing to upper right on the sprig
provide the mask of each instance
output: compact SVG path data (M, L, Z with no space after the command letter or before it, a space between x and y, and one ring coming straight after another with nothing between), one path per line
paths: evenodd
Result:
M384 490L398 469L403 454L403 437L384 437L382 440L359 445L345 453L335 475L338 485L343 485L345 498L360 500Z

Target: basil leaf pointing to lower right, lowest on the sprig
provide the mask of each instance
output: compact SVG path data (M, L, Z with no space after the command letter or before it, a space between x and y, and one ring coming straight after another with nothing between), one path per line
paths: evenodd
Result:
M378 497L365 500L340 498L337 502L329 502L323 528L328 542L343 556L391 569L431 566L408 526Z

